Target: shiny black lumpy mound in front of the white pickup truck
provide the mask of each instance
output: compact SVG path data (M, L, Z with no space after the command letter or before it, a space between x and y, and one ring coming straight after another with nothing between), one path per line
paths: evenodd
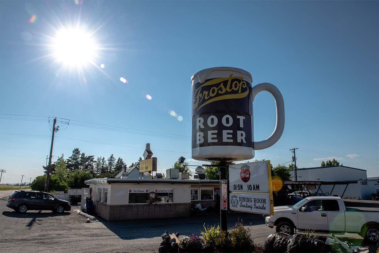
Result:
M263 252L333 252L330 245L321 240L310 239L301 234L293 236L286 233L270 234L263 245Z

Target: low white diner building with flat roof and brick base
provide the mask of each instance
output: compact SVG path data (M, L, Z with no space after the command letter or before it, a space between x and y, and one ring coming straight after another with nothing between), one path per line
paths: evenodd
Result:
M196 204L219 208L218 180L100 178L85 181L95 212L108 221L185 217Z

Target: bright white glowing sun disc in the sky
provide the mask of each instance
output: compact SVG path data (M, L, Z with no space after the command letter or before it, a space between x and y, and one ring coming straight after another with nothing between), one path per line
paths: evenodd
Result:
M62 28L53 39L53 55L65 66L82 67L94 61L96 41L90 33L75 28Z

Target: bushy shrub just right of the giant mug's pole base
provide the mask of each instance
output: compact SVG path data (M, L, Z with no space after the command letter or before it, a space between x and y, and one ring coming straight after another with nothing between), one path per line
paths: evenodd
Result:
M243 226L242 220L230 231L230 242L233 252L252 252L255 249L250 229Z

